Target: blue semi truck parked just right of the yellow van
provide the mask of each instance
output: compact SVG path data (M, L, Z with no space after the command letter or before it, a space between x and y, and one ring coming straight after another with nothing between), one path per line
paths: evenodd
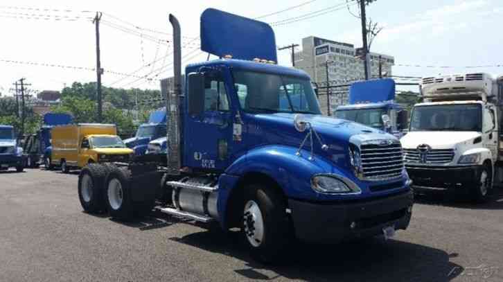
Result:
M148 143L161 136L166 136L166 109L159 109L150 113L148 123L143 123L138 127L136 135L130 139L125 139L127 148L134 150L134 155L144 155Z

